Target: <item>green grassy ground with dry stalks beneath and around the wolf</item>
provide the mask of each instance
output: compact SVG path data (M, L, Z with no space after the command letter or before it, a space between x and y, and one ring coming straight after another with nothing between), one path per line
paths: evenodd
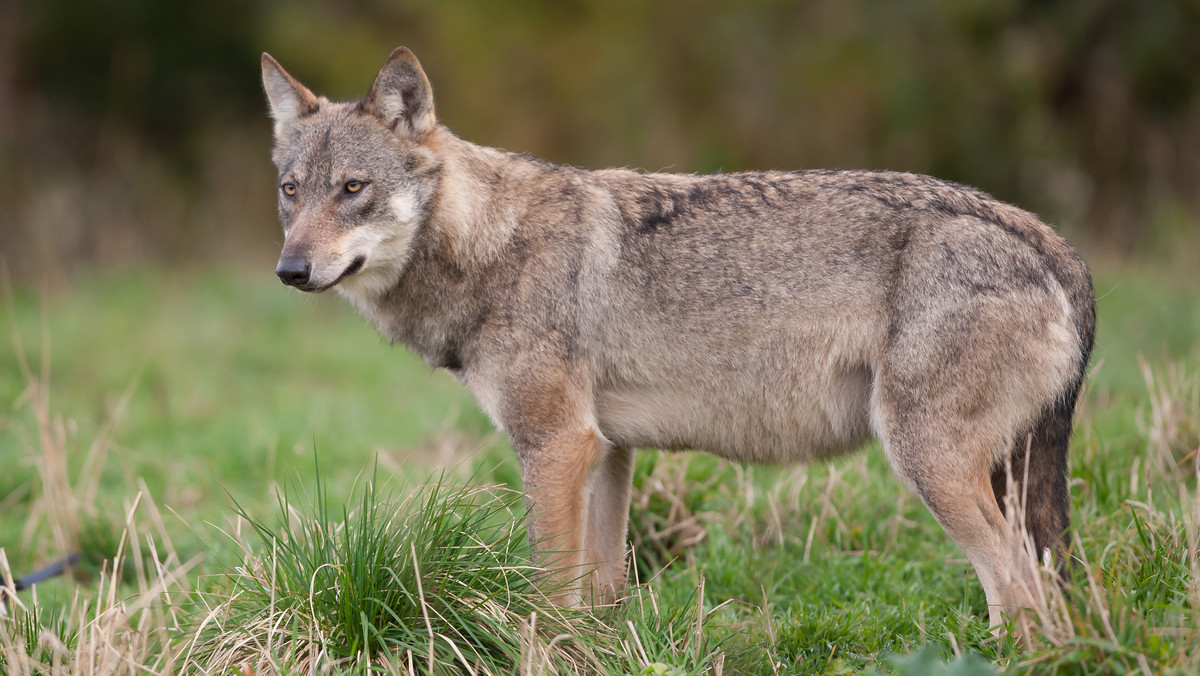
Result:
M635 600L556 615L505 526L520 501L491 492L472 521L476 498L456 492L516 487L506 442L338 299L269 270L18 288L0 331L0 573L83 561L19 594L0 668L404 672L433 653L433 671L462 657L493 672L1196 672L1200 277L1111 267L1097 294L1073 447L1086 566L1066 596L1048 591L1045 635L1024 650L988 632L970 566L877 448L797 468L641 451ZM439 475L434 502L410 493ZM478 537L454 540L450 563L418 551L464 527ZM410 591L431 566L442 586ZM475 615L431 617L426 592L475 598L458 569L491 591ZM367 606L382 611L355 615ZM484 634L508 642L450 647Z

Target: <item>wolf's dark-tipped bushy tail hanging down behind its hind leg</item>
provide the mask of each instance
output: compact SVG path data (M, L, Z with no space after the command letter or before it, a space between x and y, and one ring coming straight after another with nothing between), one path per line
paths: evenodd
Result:
M1082 283L1078 283L1081 281ZM1091 275L1084 268L1068 298L1074 306L1075 330L1079 336L1079 366L1075 377L1062 394L1048 402L1042 415L1027 435L1019 436L1010 454L1013 487L1018 499L1025 499L1025 528L1033 539L1040 560L1045 552L1054 556L1060 574L1070 567L1070 492L1067 455L1070 450L1070 430L1079 391L1087 373L1087 363L1096 337L1096 301ZM991 474L991 487L1006 512L1008 467L1001 462Z

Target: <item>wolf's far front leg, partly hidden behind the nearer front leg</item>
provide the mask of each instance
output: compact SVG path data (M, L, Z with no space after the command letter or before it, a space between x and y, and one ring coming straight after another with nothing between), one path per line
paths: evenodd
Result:
M610 449L588 485L583 561L596 564L592 574L592 602L598 605L616 603L625 586L634 454L634 449L628 447Z

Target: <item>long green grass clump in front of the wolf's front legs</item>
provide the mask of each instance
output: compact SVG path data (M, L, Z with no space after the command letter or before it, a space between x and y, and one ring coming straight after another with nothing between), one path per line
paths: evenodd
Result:
M596 665L607 632L551 602L529 563L521 493L438 481L397 502L373 480L356 492L340 513L319 480L307 505L284 492L274 528L239 508L251 537L230 533L242 561L191 663L218 672Z

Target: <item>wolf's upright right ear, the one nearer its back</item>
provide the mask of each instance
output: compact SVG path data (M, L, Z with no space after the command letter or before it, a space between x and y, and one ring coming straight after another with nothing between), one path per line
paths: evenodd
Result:
M420 138L438 124L433 115L433 88L407 47L397 47L388 56L364 104L367 112L408 138Z

